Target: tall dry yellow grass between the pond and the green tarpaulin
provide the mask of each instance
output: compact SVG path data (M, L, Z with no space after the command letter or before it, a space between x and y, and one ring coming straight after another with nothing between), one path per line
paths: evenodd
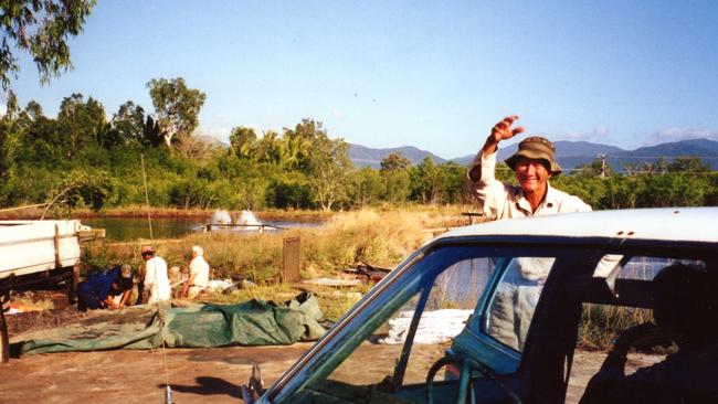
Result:
M353 277L342 269L366 261L380 267L393 268L411 252L430 240L430 228L460 223L460 206L405 206L372 209L327 215L318 227L305 227L282 233L212 232L189 234L177 240L156 241L154 247L169 266L187 272L189 251L199 244L212 269L212 278L243 278L257 284L231 295L212 294L207 299L232 304L252 298L285 301L300 290L279 280L284 237L300 237L302 277ZM277 214L274 212L273 214ZM271 213L272 214L272 213ZM292 220L305 213L293 212ZM266 217L263 213L260 217ZM282 217L286 220L286 217ZM465 224L465 223L462 223ZM86 269L103 268L122 263L141 267L141 243L93 243L84 251ZM337 320L369 289L369 286L318 290L317 297L325 317Z

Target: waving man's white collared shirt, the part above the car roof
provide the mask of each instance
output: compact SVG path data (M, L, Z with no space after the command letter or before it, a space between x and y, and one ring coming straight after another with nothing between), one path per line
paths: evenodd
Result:
M547 182L546 198L536 212L531 212L531 204L524 195L521 187L510 185L496 179L495 152L484 156L483 151L479 151L467 172L471 173L476 166L481 166L481 178L478 181L472 181L469 177L469 182L484 215L488 219L526 217L591 210L591 206L580 198L561 192Z

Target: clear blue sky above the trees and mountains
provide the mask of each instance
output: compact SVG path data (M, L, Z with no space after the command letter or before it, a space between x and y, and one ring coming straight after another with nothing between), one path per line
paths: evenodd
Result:
M718 140L717 1L101 1L75 70L13 88L54 116L93 96L112 117L146 83L207 94L199 131L310 117L368 147L475 152L509 114L528 134L633 149Z

